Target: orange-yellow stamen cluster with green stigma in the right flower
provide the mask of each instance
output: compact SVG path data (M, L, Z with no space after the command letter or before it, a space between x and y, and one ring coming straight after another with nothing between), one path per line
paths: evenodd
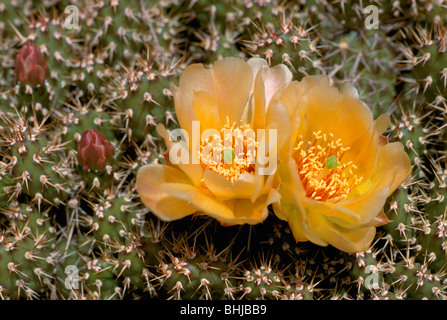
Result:
M352 161L342 162L349 149L341 139L335 141L332 133L313 132L307 144L299 136L293 156L306 197L338 202L363 180L354 174L357 166Z

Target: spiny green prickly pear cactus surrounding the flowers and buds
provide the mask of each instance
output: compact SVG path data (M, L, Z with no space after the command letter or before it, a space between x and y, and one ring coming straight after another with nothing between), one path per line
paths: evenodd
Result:
M0 1L0 298L447 299L446 17L426 1ZM30 42L49 68L36 87L15 74ZM142 204L156 127L179 126L172 84L226 56L353 83L390 115L412 172L367 251L297 243L272 212L224 227ZM89 129L114 148L102 171L78 163Z

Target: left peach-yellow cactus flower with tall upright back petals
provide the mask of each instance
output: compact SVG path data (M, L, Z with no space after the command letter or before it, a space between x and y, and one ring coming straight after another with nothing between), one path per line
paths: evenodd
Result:
M164 221L190 214L225 225L263 221L279 198L278 139L270 135L279 119L267 108L291 80L284 65L269 68L259 58L185 68L174 88L180 129L157 126L168 150L165 164L138 171L141 201Z

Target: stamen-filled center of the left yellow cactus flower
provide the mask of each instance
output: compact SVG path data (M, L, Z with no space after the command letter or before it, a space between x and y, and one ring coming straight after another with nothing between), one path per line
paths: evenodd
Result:
M255 172L257 142L250 125L236 127L227 118L219 134L202 139L200 164L234 182L241 174Z

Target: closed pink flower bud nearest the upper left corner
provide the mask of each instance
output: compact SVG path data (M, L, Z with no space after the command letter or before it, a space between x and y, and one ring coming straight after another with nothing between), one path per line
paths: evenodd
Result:
M45 78L50 75L42 53L31 41L20 49L16 57L15 74L17 80L23 85L36 87L45 83Z

